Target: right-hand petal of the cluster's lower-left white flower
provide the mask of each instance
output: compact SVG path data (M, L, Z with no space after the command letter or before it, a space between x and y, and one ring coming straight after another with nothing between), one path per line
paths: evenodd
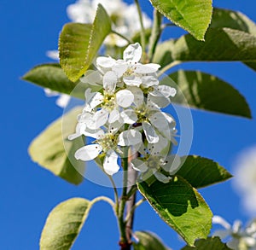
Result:
M123 131L119 134L118 145L119 146L131 146L142 143L142 134L136 130Z

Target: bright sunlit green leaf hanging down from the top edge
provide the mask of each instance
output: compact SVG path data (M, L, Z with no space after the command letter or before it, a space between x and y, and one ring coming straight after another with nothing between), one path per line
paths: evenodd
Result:
M212 18L212 0L150 0L155 9L196 39L204 35Z

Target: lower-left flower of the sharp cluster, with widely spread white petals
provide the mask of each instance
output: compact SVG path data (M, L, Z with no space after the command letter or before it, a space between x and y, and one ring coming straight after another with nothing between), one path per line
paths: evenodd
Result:
M119 146L133 146L142 142L141 134L136 130L119 131L119 124L111 125L108 131L102 129L90 130L79 123L77 130L68 139L72 140L80 135L96 138L92 144L79 148L74 156L77 160L94 160L100 154L103 155L103 169L108 175L119 171L118 154L122 151Z

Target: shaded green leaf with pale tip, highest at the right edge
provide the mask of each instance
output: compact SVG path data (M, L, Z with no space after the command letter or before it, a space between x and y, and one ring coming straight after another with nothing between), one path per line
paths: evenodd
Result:
M230 9L213 9L211 28L227 27L256 36L256 24L246 15Z

